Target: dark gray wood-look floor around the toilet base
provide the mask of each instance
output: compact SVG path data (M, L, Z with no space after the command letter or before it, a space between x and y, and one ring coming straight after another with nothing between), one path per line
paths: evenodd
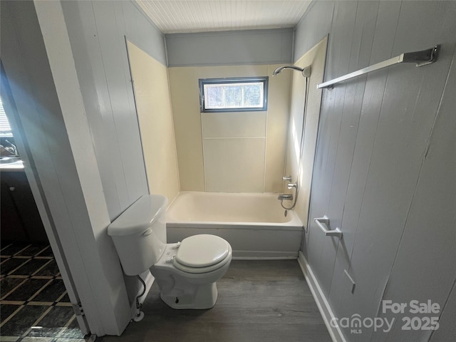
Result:
M145 318L97 342L331 341L296 260L232 261L209 310L173 310L154 284Z

